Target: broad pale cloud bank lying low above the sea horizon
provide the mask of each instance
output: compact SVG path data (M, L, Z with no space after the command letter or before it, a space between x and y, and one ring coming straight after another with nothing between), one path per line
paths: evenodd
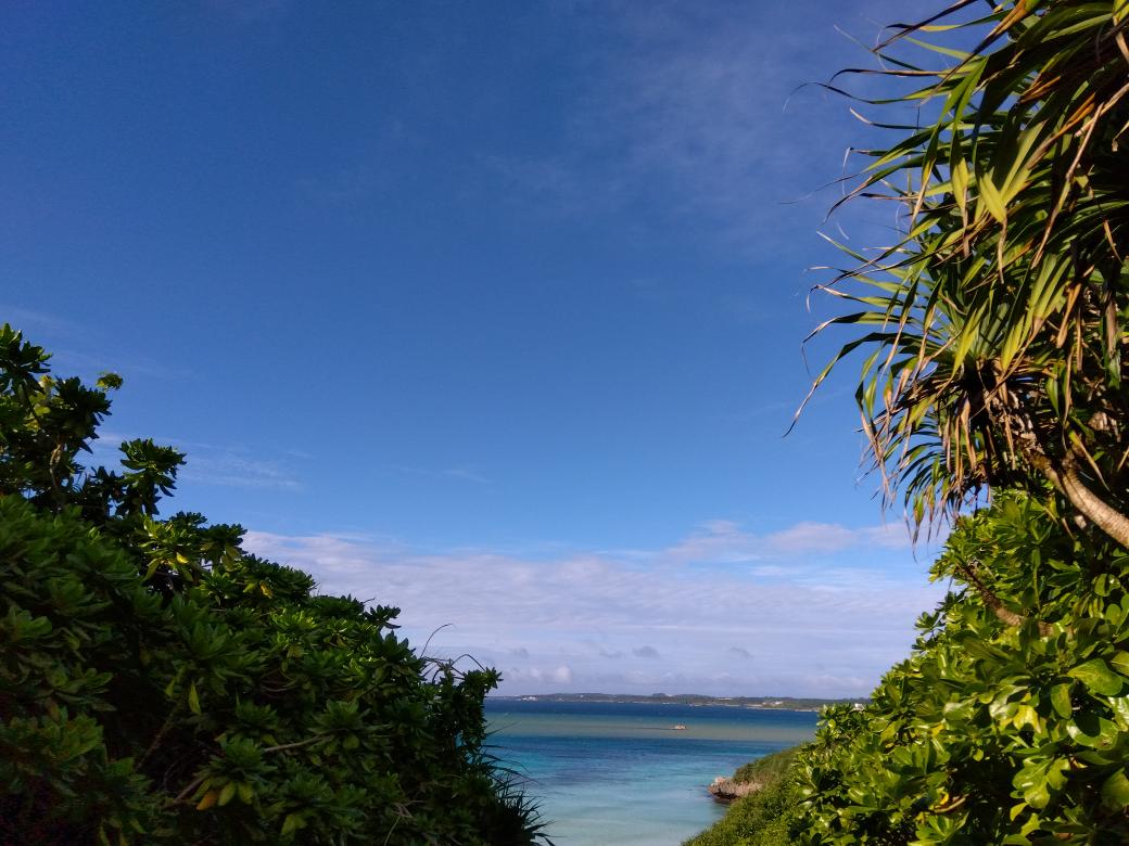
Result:
M256 531L247 546L325 591L399 606L413 643L498 667L510 693L858 695L943 593L885 529L816 522L762 537L712 522L649 553L549 559Z

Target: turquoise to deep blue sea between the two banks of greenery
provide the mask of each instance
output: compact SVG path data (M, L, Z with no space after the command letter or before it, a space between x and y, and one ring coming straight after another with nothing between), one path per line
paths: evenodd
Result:
M804 711L496 698L487 717L490 751L539 800L557 846L676 846L725 813L706 791L716 776L809 740L816 723Z

